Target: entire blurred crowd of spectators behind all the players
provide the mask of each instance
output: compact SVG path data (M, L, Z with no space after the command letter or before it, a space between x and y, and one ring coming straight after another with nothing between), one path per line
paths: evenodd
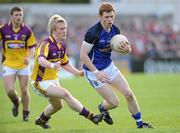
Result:
M93 23L97 22L98 18L75 16L66 19L68 21L68 36L65 43L68 55L76 60L78 67L79 51L84 34ZM180 29L173 24L171 17L117 16L115 24L119 26L121 33L127 36L131 43L131 57L180 58ZM48 35L45 24L36 23L31 27L38 43Z

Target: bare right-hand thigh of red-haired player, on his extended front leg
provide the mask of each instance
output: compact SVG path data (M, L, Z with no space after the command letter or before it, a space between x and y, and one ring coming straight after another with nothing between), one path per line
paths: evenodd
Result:
M112 80L111 85L118 89L124 96L132 93L127 80L121 72Z

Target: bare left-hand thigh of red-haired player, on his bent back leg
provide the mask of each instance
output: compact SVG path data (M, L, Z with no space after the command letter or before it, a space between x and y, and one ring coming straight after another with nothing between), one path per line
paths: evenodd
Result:
M118 103L119 99L117 95L114 93L112 88L105 84L104 86L97 88L96 91L108 102L111 104Z

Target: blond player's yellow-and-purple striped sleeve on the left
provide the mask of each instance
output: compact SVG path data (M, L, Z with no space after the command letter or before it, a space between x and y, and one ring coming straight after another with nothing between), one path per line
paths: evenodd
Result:
M46 59L49 54L49 43L42 43L40 45L37 50L37 57L44 57Z

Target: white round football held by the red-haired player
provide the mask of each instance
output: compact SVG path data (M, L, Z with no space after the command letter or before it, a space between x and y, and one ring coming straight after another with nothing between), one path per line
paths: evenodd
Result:
M110 40L110 46L114 52L119 54L129 54L131 52L130 43L122 34L113 36Z

